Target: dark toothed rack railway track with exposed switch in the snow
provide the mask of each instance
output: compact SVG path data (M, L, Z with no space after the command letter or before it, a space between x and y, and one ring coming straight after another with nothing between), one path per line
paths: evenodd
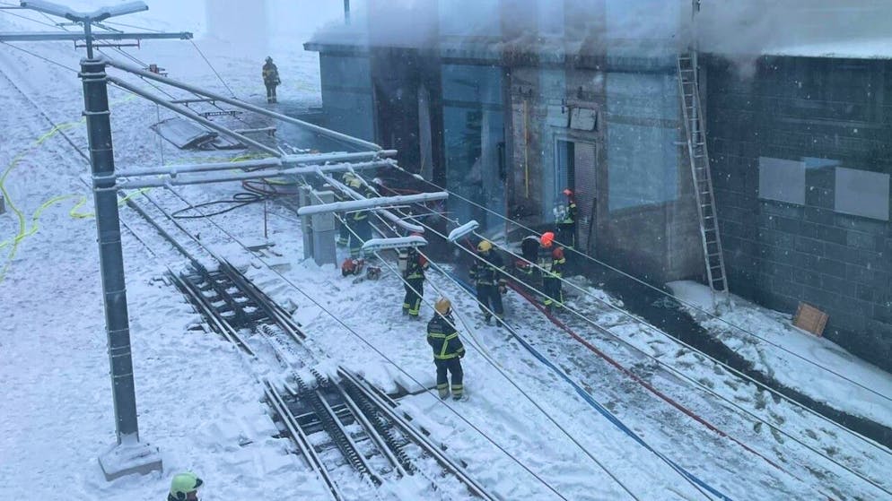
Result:
M179 269L168 265L168 276L202 315L207 330L250 358L271 353L275 359L262 364L289 370L289 376L263 379L265 400L281 435L293 441L294 452L317 473L333 499L377 497L382 486L406 477L423 479L434 497L455 498L460 490L459 497L497 499L464 465L453 462L442 444L401 416L389 395L343 367L333 376L314 368L318 359L304 346L306 334L289 312L236 266L214 255L160 203L145 199L149 203L127 203L181 257ZM132 223L125 224L149 246ZM444 474L465 488L453 485L444 491Z

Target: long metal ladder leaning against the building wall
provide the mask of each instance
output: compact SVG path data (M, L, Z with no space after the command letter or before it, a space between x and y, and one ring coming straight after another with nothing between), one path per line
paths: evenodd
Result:
M721 254L719 220L715 212L713 177L709 168L709 152L706 151L706 124L701 113L700 90L697 84L695 53L678 56L678 88L687 135L687 152L694 177L694 194L697 214L700 217L700 238L706 262L706 281L713 290L713 307L716 293L728 302L728 279L725 260Z

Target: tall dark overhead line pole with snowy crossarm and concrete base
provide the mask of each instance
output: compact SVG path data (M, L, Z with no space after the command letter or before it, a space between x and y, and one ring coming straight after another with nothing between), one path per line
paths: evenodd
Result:
M79 13L44 0L22 0L22 8L55 15L83 26L83 34L5 33L0 41L85 40L87 57L81 60L83 115L86 117L90 144L93 202L96 207L96 232L100 251L102 299L108 336L111 393L115 410L117 443L102 453L99 463L105 479L113 480L132 473L146 474L162 470L156 447L139 440L136 390L127 315L127 283L124 277L124 253L118 214L118 194L108 190L115 185L115 159L111 140L108 76L105 60L93 56L94 39L189 39L191 33L121 33L92 32L92 24L118 15L148 10L143 2L129 2L102 7L92 13Z

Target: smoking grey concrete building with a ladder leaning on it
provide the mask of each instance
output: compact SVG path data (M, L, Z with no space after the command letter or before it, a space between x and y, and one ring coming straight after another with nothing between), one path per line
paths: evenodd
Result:
M393 8L305 45L319 52L328 126L536 229L571 187L577 248L657 286L704 280L677 66L691 3ZM736 47L749 63L735 65L722 50L704 51L699 78L731 292L824 309L827 336L892 368L892 57ZM449 211L523 236L459 197Z

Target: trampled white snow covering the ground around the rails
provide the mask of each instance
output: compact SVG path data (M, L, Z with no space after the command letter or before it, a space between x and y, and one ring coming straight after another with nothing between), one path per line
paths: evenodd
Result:
M35 28L0 15L0 30L19 27ZM284 78L279 95L318 102L318 62L300 50L299 41L281 44L290 52L277 57L280 71L290 79ZM232 91L253 102L262 99L262 56L240 54L227 42L197 43ZM78 54L68 44L28 48L76 67ZM225 90L188 43L150 43L134 55L167 68L172 78ZM319 480L298 456L287 453L288 442L272 437L275 427L259 402L262 369L227 342L188 330L200 319L176 289L158 280L165 265L177 263L160 263L127 231L124 255L141 436L161 449L165 471L105 482L95 458L113 443L114 422L95 227L92 218L71 215L79 196L88 203L77 213L92 211L81 179L87 168L65 136L47 134L51 125L31 103L66 124L65 134L83 148L80 82L72 71L7 46L0 46L0 72L0 168L7 205L15 208L0 216L0 245L27 235L4 260L8 266L0 275L0 304L9 312L0 333L0 498L157 500L166 495L171 476L183 469L206 480L204 499L323 498ZM113 90L111 97L118 167L223 155L174 151L146 128L166 117L162 111L121 91ZM204 203L237 191L239 186L190 186L181 193L191 203ZM68 197L56 200L60 195ZM162 190L153 190L152 196L171 209L183 206ZM302 235L293 212L278 205L270 211L269 239L290 264L283 272L264 266L238 243L263 238L260 204L214 216L213 223L186 224L232 262L257 264L250 278L280 304L297 307L294 317L310 336L308 347L327 356L328 367L342 364L386 389L433 384L424 324L400 315L402 286L395 274L385 270L380 281L354 284L334 267L302 261ZM132 212L123 210L122 218L142 228ZM4 257L12 250L12 244L0 247ZM507 309L519 337L482 324L473 299L448 275L432 272L425 288L428 300L442 294L455 304L469 350L464 365L471 399L444 404L421 393L401 406L503 499L621 499L630 497L628 492L641 499L709 498L692 478L732 499L889 498L888 451L773 399L654 333L617 311L622 305L597 289L574 302L605 329L572 316L565 316L564 323L603 356L514 293L507 297ZM431 311L425 305L422 316ZM755 315L755 308L738 311ZM772 314L760 315L766 332L783 331ZM774 358L773 350L759 353L770 353L760 358L766 367L800 371L799 364L788 365L795 360ZM607 358L702 420L669 405ZM821 358L821 363L837 362ZM853 378L865 374L854 372L862 367L852 372L844 367L853 366L835 367ZM888 375L871 376L878 384L870 387L886 392L880 384L888 382ZM851 392L826 381L825 373L812 371L785 382L826 388L827 399L850 409L845 396ZM855 400L852 410L888 419L885 404L870 393ZM608 416L621 420L641 441ZM399 492L405 490L382 489L379 496L396 498ZM415 495L433 497L430 492Z

